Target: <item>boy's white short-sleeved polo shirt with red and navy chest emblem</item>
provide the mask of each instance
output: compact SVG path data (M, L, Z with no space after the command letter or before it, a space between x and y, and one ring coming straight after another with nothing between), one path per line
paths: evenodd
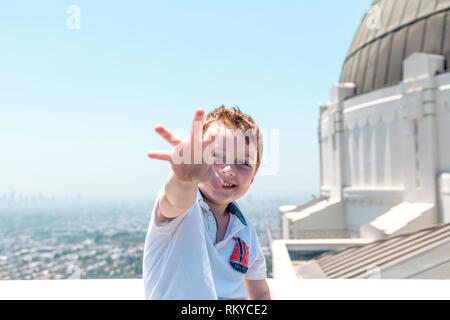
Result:
M244 279L266 278L266 262L255 228L235 202L216 243L217 221L200 191L189 210L156 224L152 210L145 240L143 280L146 299L247 299Z

